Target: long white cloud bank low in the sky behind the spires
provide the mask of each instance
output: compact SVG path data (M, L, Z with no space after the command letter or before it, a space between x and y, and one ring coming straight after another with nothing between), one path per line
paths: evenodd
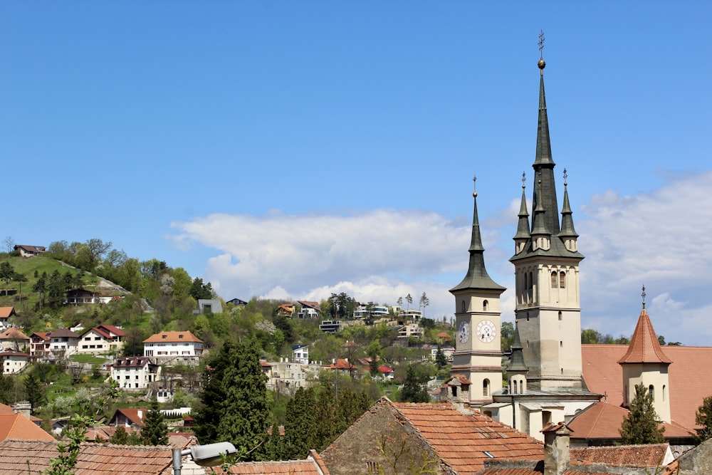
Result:
M711 344L712 172L673 177L649 193L606 191L574 214L580 236L582 325L631 335L646 286L647 308L669 341ZM572 203L574 209L576 203ZM481 208L482 209L482 208ZM511 236L519 198L482 220L490 275L513 287ZM346 292L359 301L393 304L422 292L426 313L451 315L448 288L467 267L470 219L422 211L375 209L352 216L264 217L212 214L174 223L177 244L217 249L204 278L232 298L272 296L318 301ZM513 292L502 296L503 320L513 320Z

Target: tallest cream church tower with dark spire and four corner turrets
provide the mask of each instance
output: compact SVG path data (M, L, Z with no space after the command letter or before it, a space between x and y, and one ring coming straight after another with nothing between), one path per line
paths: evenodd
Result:
M579 262L584 256L578 252L578 234L566 182L559 224L543 59L538 66L539 121L533 164L533 213L530 223L523 185L519 224L514 236L515 254L510 259L515 266L515 318L529 370L528 386L541 390L584 389L579 292Z

